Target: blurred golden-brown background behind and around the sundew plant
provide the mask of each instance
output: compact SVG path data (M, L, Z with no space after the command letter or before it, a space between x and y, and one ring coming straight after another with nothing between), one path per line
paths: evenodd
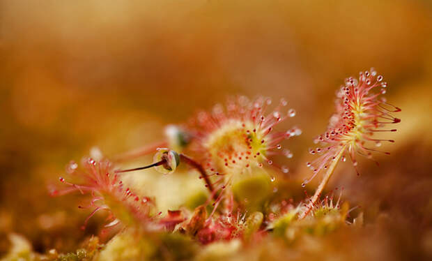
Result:
M366 220L393 219L385 238L396 256L432 257L431 1L3 0L0 237L74 249L97 225L78 231L88 213L48 195L68 161L160 140L164 125L230 95L284 97L297 110L285 126L303 134L286 144L288 165L304 179L334 91L371 66L402 108L392 155L362 161L361 177L344 164L330 187L344 186Z

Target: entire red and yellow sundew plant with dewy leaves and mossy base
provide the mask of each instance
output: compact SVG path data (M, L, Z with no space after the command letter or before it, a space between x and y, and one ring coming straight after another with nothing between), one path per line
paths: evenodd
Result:
M327 130L301 145L316 154L310 162L295 158L290 151L290 144L302 135L296 119L308 115L296 114L286 98L261 96L229 97L183 123L162 128L164 140L137 144L133 151L105 156L95 149L79 163L70 161L49 193L52 197L82 195L84 203L77 207L87 218L77 230L87 230L95 216L98 221L102 216L104 222L98 223L93 237L77 251L59 253L52 249L26 258L277 259L268 253L272 248L289 259L296 244L308 246L338 230L356 230L362 226L362 208L350 206L343 188L332 188L328 183L346 174L338 171L341 161L350 161L360 176L357 179L362 179L364 161L358 158L376 161L376 154L392 157L380 146L394 142L385 135L396 132L401 121L396 116L401 109L385 98L388 85L373 68L360 72L357 78L348 77L337 89L334 101L326 101L328 105L334 102ZM282 123L291 128L282 128ZM153 156L153 162L143 162L147 155ZM130 167L130 162L142 165ZM304 181L286 179L291 167L300 165L311 169L298 167ZM194 173L206 193L178 209L160 211L157 197L141 195L136 184L124 179L147 175L149 169L166 179ZM308 184L312 179L319 180L316 187ZM310 249L304 251L311 254Z

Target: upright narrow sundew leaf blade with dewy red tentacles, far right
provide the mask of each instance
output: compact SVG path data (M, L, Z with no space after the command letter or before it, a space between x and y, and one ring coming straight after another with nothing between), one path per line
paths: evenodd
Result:
M380 88L380 91L373 92ZM381 127L387 124L397 124L401 120L393 117L392 112L400 112L399 107L387 103L380 95L385 94L387 82L383 82L383 76L378 75L376 70L360 72L357 79L348 77L345 85L337 91L335 102L336 112L330 118L327 131L319 135L314 143L321 143L323 147L309 149L310 154L321 154L313 162L308 162L314 174L305 179L302 184L305 186L311 179L314 179L320 170L327 170L332 161L338 160L337 155L347 151L357 174L357 160L355 154L371 158L372 152L382 152L367 147L367 142L373 142L380 147L381 142L394 142L394 140L383 140L374 138L374 133L394 132L396 129L382 130ZM341 156L341 161L346 161L346 156Z

